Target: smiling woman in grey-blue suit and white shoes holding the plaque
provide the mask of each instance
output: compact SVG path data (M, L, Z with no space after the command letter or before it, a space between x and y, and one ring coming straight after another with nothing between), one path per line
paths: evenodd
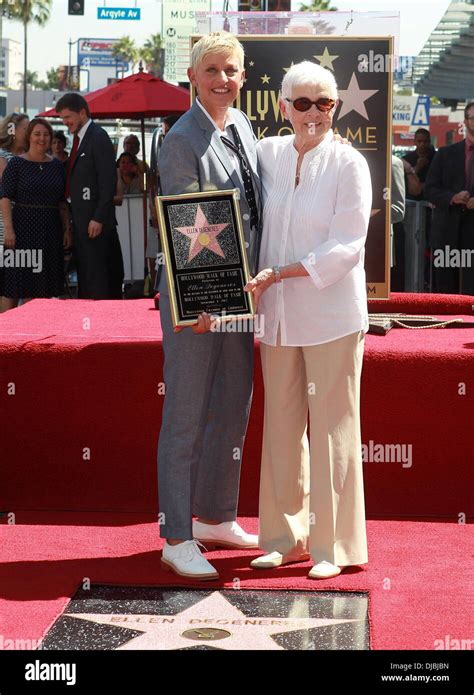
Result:
M188 76L197 98L163 141L162 192L237 188L255 272L260 238L255 135L247 116L232 108L244 80L242 46L227 32L202 37L193 47ZM212 256L204 247L199 253L204 261ZM243 450L252 398L253 335L210 332L205 313L193 329L176 332L163 273L159 288L166 383L158 447L165 519L160 532L166 539L161 562L181 576L215 579L217 569L202 555L199 541L209 548L258 547L257 537L237 523L241 457L235 458L235 451Z

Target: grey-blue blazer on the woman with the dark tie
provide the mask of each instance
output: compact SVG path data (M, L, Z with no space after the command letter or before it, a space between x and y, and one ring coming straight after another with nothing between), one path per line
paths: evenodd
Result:
M261 218L262 196L255 151L256 138L247 116L239 109L230 109L230 111L247 154ZM250 210L240 171L229 157L228 150L214 125L196 102L166 135L160 149L158 170L162 195L221 191L232 188L240 190L244 235L249 243L247 255L250 271L254 274L258 267L261 224L258 230L250 229ZM163 279L160 289L164 289Z

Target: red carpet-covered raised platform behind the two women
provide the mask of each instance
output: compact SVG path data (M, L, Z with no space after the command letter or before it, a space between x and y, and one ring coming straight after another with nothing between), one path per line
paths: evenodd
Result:
M371 312L472 321L474 297L400 294L369 304ZM242 515L258 512L258 343L255 353ZM152 300L35 300L2 314L0 509L157 510L162 362ZM368 517L457 520L470 514L473 381L473 329L393 329L366 337Z

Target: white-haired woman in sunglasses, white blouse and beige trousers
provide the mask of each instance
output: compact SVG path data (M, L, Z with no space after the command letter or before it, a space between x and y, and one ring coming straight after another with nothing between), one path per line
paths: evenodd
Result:
M246 287L265 329L259 546L267 554L251 566L311 556L312 579L367 562L359 391L372 191L364 157L334 139L336 107L329 70L310 62L288 70L280 108L294 135L258 145L262 270Z

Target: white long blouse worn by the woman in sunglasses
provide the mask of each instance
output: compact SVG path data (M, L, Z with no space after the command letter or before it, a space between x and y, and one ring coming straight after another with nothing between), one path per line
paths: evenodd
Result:
M369 167L334 140L304 155L295 188L294 135L257 144L263 183L259 269L301 262L309 275L287 278L261 296L263 343L318 345L368 330L364 245L372 206Z

